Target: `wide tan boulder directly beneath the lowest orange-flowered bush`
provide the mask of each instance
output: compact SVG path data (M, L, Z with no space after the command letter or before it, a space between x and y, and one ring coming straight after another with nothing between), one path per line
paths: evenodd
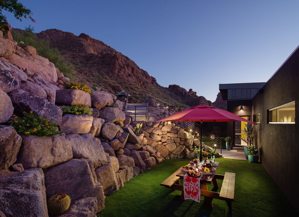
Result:
M22 136L17 162L22 163L25 169L36 167L45 169L71 158L73 158L72 145L65 137L29 135Z

